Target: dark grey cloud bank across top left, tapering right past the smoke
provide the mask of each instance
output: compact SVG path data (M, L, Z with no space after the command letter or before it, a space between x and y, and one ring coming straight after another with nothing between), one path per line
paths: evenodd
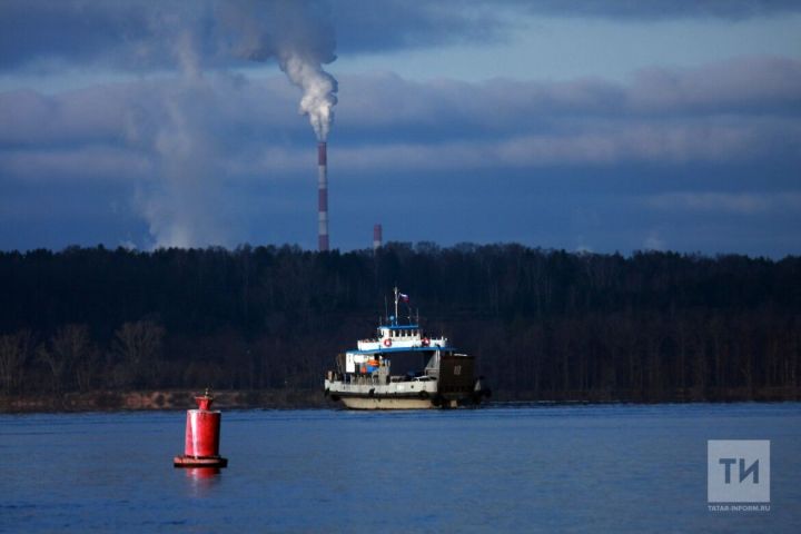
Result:
M317 43L323 62L334 57L327 41L339 34L346 52L375 52L444 42L498 38L506 28L492 4L327 1L4 0L0 3L0 69L47 69L52 62L117 70L170 67L175 39L186 31L204 66L269 59L276 43ZM314 33L299 17L315 18ZM333 24L333 26L332 26ZM245 31L241 31L241 30ZM63 65L60 65L61 67Z

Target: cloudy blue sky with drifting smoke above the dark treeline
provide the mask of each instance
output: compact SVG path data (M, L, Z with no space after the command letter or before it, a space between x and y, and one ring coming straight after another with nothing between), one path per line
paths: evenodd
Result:
M801 2L0 0L0 249L801 254Z

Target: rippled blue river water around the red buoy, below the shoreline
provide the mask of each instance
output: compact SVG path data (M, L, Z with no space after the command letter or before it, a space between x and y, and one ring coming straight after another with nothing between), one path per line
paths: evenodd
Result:
M4 532L799 532L801 405L0 416ZM710 512L706 441L771 441L771 511Z

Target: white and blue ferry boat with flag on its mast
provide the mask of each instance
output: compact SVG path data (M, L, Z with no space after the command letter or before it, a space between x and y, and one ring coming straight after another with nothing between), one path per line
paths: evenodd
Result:
M337 355L328 370L325 395L352 409L428 409L475 406L491 392L473 376L473 356L461 354L444 336L429 337L419 318L404 323L398 303L408 296L395 288L395 315L377 335ZM380 322L379 322L380 323Z

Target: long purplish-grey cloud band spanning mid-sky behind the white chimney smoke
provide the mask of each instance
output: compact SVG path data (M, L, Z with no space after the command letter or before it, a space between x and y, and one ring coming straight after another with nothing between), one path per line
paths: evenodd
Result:
M732 83L725 89L724 108L709 109L699 102L712 102L720 88L698 82L701 71L680 71L664 81L663 95L671 92L675 77L685 80L685 88L696 85L690 100L657 96L659 77L626 87L601 81L421 83L392 75L352 76L343 83L332 158L356 172L777 158L790 162L801 154L801 126L792 113L792 106L801 102L793 103L788 90L801 88L799 65L758 61L759 72L772 73L764 79L780 80L775 90L768 81L758 93L753 86ZM711 70L729 72L736 66ZM748 78L738 76L741 81ZM170 120L166 102L174 102L192 128L206 129L220 165L235 174L254 169L265 176L307 168L314 138L296 112L297 91L283 77L205 77L204 95L212 98L212 106L202 99L190 101L196 92L187 91L187 83L182 78L158 78L53 96L0 93L0 120L9 125L0 130L0 158L19 158L24 147L28 162L36 164L37 154L46 160L52 154L106 145L119 154L129 151L129 158L147 159L156 154L148 139L164 131ZM637 103L645 93L651 93L647 106ZM759 110L754 102L760 102ZM739 112L739 107L744 110ZM86 164L89 175L102 171ZM48 172L58 170L53 167ZM36 169L32 165L22 175L32 176Z

